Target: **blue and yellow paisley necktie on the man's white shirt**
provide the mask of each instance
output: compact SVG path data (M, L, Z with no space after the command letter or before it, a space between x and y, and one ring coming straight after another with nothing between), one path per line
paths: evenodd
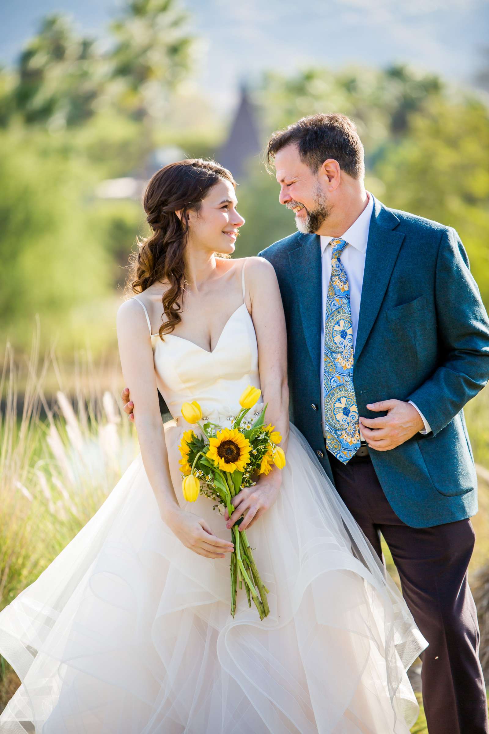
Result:
M331 240L323 364L326 448L345 464L360 448L359 410L353 389L350 286L340 259L347 244L344 239Z

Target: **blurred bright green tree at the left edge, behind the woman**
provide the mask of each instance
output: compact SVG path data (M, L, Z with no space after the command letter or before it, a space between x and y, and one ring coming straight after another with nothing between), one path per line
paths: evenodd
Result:
M62 330L71 309L111 292L111 260L89 208L95 172L47 137L0 130L2 343L29 344L35 313L43 330Z

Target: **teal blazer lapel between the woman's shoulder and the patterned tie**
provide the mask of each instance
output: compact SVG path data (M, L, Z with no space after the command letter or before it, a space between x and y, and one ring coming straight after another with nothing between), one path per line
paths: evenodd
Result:
M299 247L289 252L289 261L306 344L319 374L322 302L319 235L303 235Z

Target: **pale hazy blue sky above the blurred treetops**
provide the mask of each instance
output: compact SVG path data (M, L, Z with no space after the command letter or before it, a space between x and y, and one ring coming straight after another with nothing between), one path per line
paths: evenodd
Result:
M4 0L0 62L10 64L49 12L72 15L106 37L123 0ZM240 81L265 69L309 65L384 67L407 62L455 84L473 84L488 62L489 0L181 0L199 37L196 84L218 109L235 103Z

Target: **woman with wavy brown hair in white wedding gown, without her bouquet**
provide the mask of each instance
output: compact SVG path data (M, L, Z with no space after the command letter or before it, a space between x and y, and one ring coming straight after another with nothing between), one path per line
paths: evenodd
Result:
M170 164L147 186L153 233L117 313L141 453L0 614L0 653L21 678L2 734L405 734L416 720L406 670L427 643L289 423L279 286L262 258L230 258L236 206L213 161ZM228 517L183 498L180 409L196 400L229 426L248 385L287 464ZM229 613L227 528L242 516L270 590L262 621L244 590Z

